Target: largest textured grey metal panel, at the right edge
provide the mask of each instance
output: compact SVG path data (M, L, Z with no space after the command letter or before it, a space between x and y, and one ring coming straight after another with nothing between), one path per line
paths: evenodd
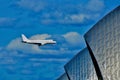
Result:
M106 15L86 34L104 80L120 79L120 6Z

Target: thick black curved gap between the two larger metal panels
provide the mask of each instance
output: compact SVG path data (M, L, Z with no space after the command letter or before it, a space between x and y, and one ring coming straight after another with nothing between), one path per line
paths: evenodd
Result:
M97 60L92 52L92 49L90 48L89 44L87 43L87 41L85 40L86 42L86 45L87 45L87 48L88 48L88 51L90 53L90 56L91 56L91 59L92 59L92 62L93 62L93 65L95 67L95 71L96 71L96 74L97 74L97 77L98 77L98 80L103 80L103 76L102 76L102 73L100 71L100 68L99 68L99 65L97 63Z

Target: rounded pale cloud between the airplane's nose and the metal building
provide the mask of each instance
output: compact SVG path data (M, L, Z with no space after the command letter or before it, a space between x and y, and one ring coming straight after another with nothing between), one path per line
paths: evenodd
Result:
M63 35L63 37L74 46L84 44L83 36L77 32L69 32Z

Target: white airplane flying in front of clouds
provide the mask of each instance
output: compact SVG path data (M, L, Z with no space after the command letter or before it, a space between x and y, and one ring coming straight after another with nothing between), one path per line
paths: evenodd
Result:
M23 43L36 44L38 46L43 46L45 44L56 44L56 41L53 40L30 40L24 34L22 34L21 37Z

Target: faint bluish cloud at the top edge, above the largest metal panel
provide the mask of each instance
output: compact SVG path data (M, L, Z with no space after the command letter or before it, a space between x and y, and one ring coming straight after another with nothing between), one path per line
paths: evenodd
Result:
M91 11L101 11L104 6L103 0L90 0L87 4L87 9Z

